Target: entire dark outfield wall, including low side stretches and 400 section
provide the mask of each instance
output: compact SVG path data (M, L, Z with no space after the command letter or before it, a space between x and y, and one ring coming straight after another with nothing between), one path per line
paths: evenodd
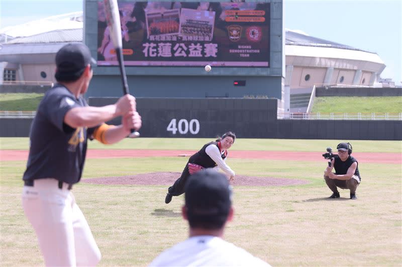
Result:
M118 98L89 98L91 106ZM276 99L137 98L142 137L211 138L233 131L239 138L402 140L402 121L278 120ZM0 136L26 137L32 119L0 119ZM110 122L120 124L120 118Z

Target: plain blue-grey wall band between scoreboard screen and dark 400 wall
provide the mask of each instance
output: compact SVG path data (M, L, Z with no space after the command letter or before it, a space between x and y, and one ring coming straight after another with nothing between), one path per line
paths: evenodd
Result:
M246 86L234 86L234 80L245 80ZM161 98L243 98L246 95L281 99L282 79L275 77L196 77L196 76L129 76L130 93L136 97ZM120 97L120 76L97 76L86 97Z

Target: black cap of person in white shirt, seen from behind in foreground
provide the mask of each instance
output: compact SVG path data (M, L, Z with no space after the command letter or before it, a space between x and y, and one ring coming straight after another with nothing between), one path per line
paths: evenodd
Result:
M232 205L232 186L224 174L202 170L188 178L184 199L191 227L220 228Z

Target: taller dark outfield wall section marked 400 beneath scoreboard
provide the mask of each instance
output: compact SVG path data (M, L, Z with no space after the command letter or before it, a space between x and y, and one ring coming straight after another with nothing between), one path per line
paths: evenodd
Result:
M104 106L117 98L89 98ZM275 135L277 99L137 98L144 137L213 137L227 131L249 138ZM113 124L120 124L115 119Z

